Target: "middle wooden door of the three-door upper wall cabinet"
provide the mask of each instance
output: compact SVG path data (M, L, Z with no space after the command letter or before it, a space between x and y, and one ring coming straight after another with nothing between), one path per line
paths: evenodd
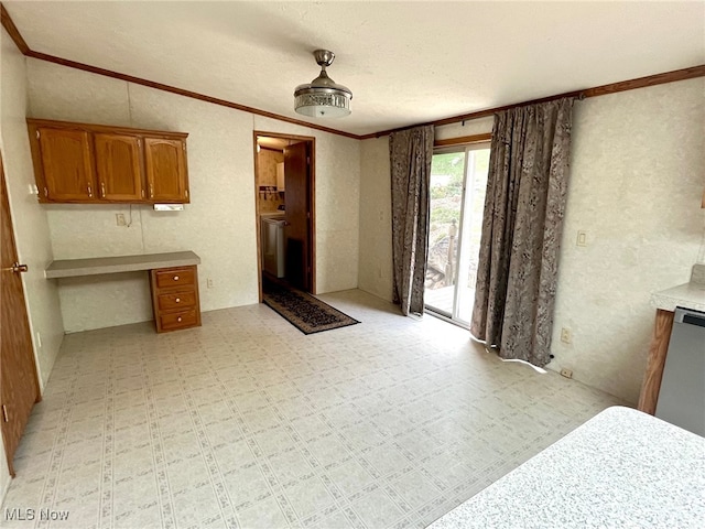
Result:
M135 202L144 198L141 139L137 136L94 136L100 198Z

